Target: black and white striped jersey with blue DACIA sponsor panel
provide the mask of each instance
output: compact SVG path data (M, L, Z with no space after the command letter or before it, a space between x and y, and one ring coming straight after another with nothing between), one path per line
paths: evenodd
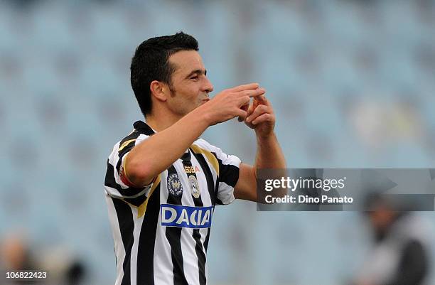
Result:
M122 163L153 134L147 124L135 122L134 131L114 146L107 160L104 188L116 254L115 284L207 284L214 207L235 200L240 159L198 139L151 185L129 187Z

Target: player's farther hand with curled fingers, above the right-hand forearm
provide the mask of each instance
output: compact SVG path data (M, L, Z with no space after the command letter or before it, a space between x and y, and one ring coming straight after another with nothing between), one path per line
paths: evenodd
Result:
M254 129L257 136L262 138L273 134L275 127L274 109L264 95L254 97L254 101L247 110L245 124Z

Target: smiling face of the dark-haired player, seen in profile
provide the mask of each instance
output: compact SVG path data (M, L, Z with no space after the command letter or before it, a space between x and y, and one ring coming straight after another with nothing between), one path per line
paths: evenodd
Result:
M213 85L206 76L203 60L195 50L181 50L169 57L175 67L171 81L171 96L168 108L183 117L209 99L208 93Z

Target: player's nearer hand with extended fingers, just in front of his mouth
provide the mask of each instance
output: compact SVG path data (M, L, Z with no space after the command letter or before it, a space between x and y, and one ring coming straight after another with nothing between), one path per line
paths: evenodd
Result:
M239 85L223 90L200 108L205 112L210 126L235 117L239 117L239 122L243 122L247 116L251 97L264 95L265 92L266 90L259 87L258 83Z

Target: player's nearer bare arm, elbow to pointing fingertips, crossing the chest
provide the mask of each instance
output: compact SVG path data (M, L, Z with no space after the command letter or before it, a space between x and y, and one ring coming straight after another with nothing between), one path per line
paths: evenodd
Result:
M250 97L264 94L257 83L224 90L213 100L194 109L175 124L134 146L125 158L124 171L137 186L149 185L156 176L180 158L209 126L234 117L245 119L240 109ZM176 139L174 139L176 138Z

